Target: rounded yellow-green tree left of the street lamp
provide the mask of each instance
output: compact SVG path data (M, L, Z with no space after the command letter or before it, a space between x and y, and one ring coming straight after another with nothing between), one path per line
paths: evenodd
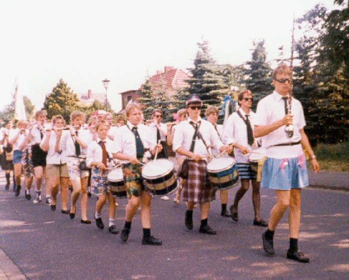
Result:
M52 92L46 96L43 109L47 111L48 118L60 114L68 123L70 113L80 109L78 102L79 98L76 93L73 93L67 84L60 79Z

